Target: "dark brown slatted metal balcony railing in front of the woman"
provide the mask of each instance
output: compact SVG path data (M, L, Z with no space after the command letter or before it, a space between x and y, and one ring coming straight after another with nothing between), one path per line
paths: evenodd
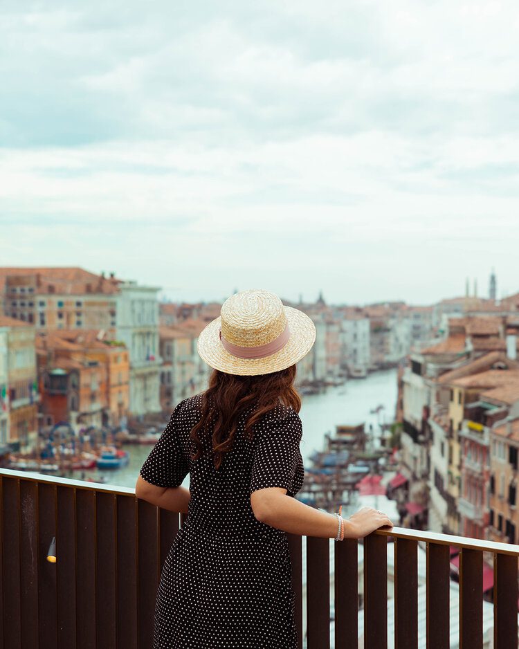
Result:
M184 515L134 490L0 469L0 648L149 649L163 561ZM388 637L388 538L394 540L394 639ZM56 538L57 562L46 560ZM495 649L517 648L519 546L394 528L363 540L363 628L358 542L334 545L330 638L329 539L289 535L299 647L421 649L418 543L426 553L426 646L450 646L450 545L460 548L459 647L483 646L483 551L494 556Z

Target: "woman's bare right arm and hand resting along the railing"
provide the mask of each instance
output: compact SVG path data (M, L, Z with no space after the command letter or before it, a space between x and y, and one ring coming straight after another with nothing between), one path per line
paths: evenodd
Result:
M337 535L336 515L286 495L285 488L268 487L253 491L251 506L257 520L285 532L320 538L335 538ZM379 527L393 527L388 516L372 507L363 507L344 521L345 538L362 538Z

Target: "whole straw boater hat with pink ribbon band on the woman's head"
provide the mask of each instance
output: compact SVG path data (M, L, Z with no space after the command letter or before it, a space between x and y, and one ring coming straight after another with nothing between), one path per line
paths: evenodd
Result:
M227 374L271 374L308 354L316 325L264 289L231 295L221 315L201 331L197 348L210 367Z

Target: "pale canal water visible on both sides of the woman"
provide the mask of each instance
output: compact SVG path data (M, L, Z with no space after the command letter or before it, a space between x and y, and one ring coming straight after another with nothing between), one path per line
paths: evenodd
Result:
M382 408L378 413L372 413L377 406ZM300 417L303 423L301 454L304 464L310 464L310 456L316 450L322 450L325 433L331 435L339 424L367 423L372 426L374 444L380 435L380 424L394 420L397 405L397 370L370 374L367 378L350 379L344 385L327 387L320 394L305 394L302 396ZM130 461L127 466L115 470L89 470L85 477L99 479L104 477L109 484L134 487L138 472L152 446L127 444ZM78 471L73 474L75 479L80 477ZM189 476L183 485L189 486Z

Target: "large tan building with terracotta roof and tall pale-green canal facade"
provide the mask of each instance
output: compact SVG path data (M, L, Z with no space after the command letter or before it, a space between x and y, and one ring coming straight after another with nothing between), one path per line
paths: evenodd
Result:
M82 268L0 268L6 314L39 330L102 329L130 358L130 410L160 410L157 287Z

